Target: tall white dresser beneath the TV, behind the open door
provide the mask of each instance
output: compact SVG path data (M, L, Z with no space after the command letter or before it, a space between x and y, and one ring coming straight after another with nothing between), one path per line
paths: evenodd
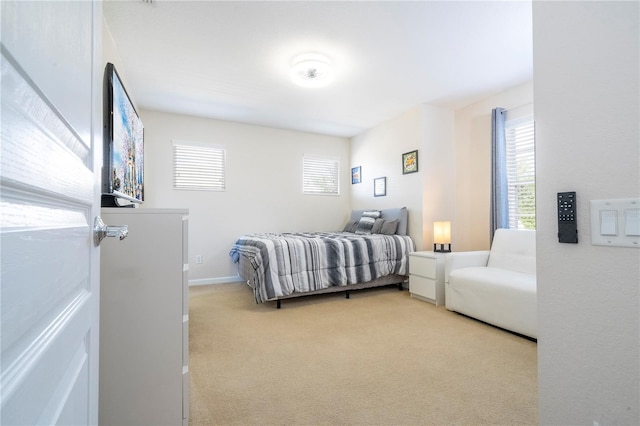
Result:
M189 424L188 214L102 209L129 235L100 246L101 425Z

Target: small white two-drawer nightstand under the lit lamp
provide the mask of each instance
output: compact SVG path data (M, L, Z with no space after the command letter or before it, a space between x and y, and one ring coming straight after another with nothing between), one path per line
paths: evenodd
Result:
M444 305L444 255L432 251L409 254L411 297Z

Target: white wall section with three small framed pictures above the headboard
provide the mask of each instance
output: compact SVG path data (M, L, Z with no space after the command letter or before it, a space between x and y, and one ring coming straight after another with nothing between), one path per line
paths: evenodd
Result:
M419 105L351 140L351 165L362 167L352 185L354 209L407 207L417 250L430 250L433 222L453 217L453 112ZM418 172L402 174L402 154L418 150ZM387 195L373 196L373 179L387 177Z

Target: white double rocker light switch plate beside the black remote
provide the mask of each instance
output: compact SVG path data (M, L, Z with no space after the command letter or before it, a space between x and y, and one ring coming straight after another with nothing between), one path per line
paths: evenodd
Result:
M640 248L640 198L591 200L591 244Z

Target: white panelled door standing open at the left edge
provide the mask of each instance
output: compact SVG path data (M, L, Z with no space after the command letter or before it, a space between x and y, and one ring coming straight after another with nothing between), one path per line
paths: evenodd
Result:
M0 3L0 423L97 424L102 5Z

